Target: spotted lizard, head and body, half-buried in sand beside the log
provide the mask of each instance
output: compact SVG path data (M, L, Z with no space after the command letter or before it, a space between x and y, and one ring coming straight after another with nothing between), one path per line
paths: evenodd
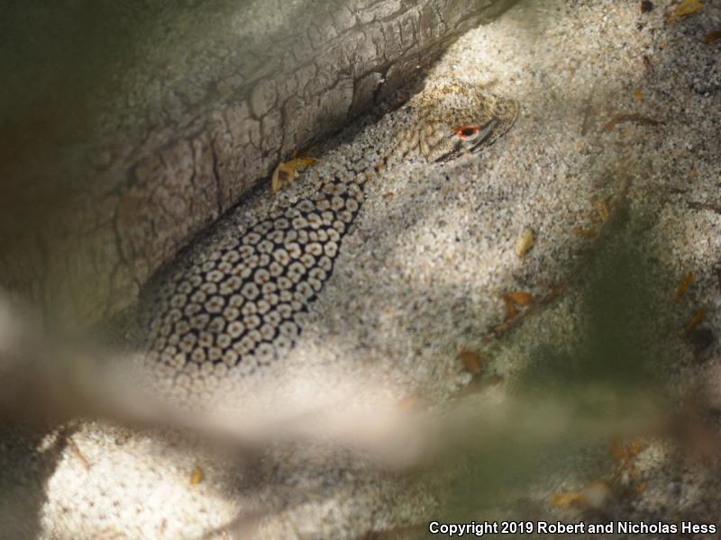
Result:
M376 163L322 181L313 196L224 238L170 275L151 309L148 353L169 390L207 398L229 375L250 375L287 355L333 273L364 185L408 159L447 161L478 152L517 113L515 101L474 85L454 79L426 85L391 113L391 142Z

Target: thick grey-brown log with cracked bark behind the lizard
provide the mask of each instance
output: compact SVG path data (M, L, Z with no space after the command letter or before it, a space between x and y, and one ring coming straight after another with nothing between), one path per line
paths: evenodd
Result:
M513 2L11 2L0 283L72 326L123 309L278 159Z

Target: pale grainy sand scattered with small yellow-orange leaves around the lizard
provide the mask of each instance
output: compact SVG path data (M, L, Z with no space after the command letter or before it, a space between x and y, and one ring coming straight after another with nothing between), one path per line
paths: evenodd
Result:
M691 391L721 404L718 341L707 343L721 318L721 40L704 42L721 29L721 3L707 0L698 13L671 23L666 16L677 1L654 1L649 13L639 4L522 2L463 36L431 76L515 97L516 126L480 156L445 166L409 164L373 185L297 350L287 363L242 383L243 399L350 409L416 402L433 409L471 380L481 388L473 398L479 410L523 397L518 389L544 359L565 359L569 372L580 362L579 351L593 343L585 330L594 320L587 299L612 267L619 282L630 284L622 294L640 294L629 328L640 315L650 324L634 334L664 337L662 353L643 337L637 342L643 351L636 351L648 356L660 381L651 388L667 398L664 415L679 412ZM635 116L609 124L619 114ZM363 137L382 140L383 130L380 121ZM353 149L347 142L324 153L298 182L328 174ZM626 182L625 224L611 231L610 247L594 247L599 208L603 201L612 208ZM293 185L282 196L304 189ZM269 204L266 193L257 194L216 234L262 215ZM518 257L524 229L533 231L534 246ZM630 265L630 256L619 256L629 249ZM538 302L589 253L595 253L589 266L556 302L501 338L488 338L504 320L505 293L530 293ZM674 287L689 272L688 291L673 302ZM679 332L699 308L703 321ZM616 319L625 316L619 311ZM483 359L479 374L465 369L460 350ZM627 377L632 390L641 385L635 371ZM548 395L572 393L559 380ZM241 516L239 530L259 527L245 529L251 537L356 537L420 525L388 535L412 537L431 518L454 515L449 501L458 497L468 506L456 506L459 515L477 520L579 521L589 509L604 519L701 522L718 515L713 475L680 459L668 439L632 431L639 442L609 457L607 431L599 428L598 437L575 437L559 453L549 442L555 436L524 438L532 424L533 415L521 414L508 433L520 454L542 454L523 462L534 471L516 463L507 446L492 446L496 454L486 451L470 465L474 478L481 474L469 495L426 489L427 476L388 472L321 443L278 445L239 459L170 434L85 423L71 445L52 437L4 444L6 458L22 465L2 466L3 483L14 486L4 489L2 529L13 538L195 538ZM573 440L576 417L565 426ZM717 431L717 420L711 427ZM520 481L504 474L488 480L489 471L516 468L525 471ZM9 518L8 511L16 513Z

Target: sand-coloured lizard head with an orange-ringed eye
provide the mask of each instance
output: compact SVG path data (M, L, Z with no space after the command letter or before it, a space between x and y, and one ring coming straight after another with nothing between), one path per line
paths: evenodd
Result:
M399 159L450 161L477 153L506 133L518 116L516 101L450 78L427 84L408 104L417 112L416 127L399 139Z

